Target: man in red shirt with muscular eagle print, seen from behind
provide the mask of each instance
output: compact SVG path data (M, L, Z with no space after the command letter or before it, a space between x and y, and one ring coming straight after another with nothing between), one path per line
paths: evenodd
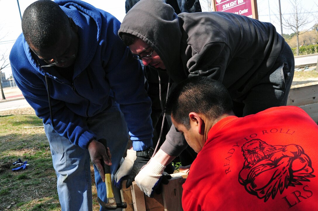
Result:
M166 113L198 152L183 184L183 210L318 207L318 126L301 108L238 118L220 82L193 77L176 86Z

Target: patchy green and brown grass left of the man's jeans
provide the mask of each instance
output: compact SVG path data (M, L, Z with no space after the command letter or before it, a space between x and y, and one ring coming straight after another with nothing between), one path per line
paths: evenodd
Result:
M19 109L14 115L0 112L0 210L61 210L44 129L24 128L41 126L42 120L35 114L17 111ZM27 161L29 166L12 171L11 165L18 158ZM92 182L93 209L99 210Z

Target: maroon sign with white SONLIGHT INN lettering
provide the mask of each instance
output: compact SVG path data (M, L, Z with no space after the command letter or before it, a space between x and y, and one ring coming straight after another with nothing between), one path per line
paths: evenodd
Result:
M215 0L216 11L232 12L252 18L251 0Z

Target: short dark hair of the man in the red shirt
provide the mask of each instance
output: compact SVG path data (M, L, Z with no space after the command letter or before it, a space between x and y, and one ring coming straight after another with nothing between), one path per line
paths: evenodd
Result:
M193 76L173 89L167 100L165 113L189 130L190 112L217 119L231 112L232 107L231 96L221 82L204 76Z

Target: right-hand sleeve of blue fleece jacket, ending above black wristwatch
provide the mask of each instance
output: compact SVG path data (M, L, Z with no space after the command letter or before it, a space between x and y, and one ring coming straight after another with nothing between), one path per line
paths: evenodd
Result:
M134 61L128 48L118 66L107 73L107 78L127 122L133 149L138 151L151 147L151 100L144 88L141 65Z

